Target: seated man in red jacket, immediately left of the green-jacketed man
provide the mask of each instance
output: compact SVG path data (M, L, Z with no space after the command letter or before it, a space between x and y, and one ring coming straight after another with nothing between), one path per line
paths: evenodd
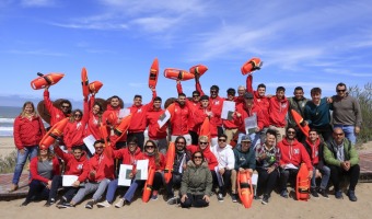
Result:
M327 195L327 185L330 176L330 170L328 166L324 163L324 147L325 143L321 140L319 135L316 130L311 129L309 131L309 138L305 139L303 142L303 146L305 147L310 159L312 160L312 164L315 169L314 175L312 177L311 182L311 188L310 192L313 197L318 197L318 193L325 197L328 198ZM321 177L321 186L318 189L316 189L316 178Z

